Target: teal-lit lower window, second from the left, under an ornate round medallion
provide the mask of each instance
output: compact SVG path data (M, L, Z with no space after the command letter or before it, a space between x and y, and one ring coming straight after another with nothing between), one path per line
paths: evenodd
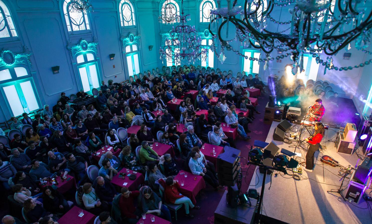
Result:
M84 52L76 57L77 70L84 92L100 87L98 64L93 53Z

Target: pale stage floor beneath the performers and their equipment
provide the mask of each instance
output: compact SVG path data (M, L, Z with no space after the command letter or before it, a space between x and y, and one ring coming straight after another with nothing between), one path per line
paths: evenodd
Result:
M278 123L276 121L272 123L269 134L267 135L267 143L272 141L273 132ZM299 128L299 125L296 126ZM321 156L331 156L343 166L355 166L358 160L356 152L362 154L361 149L356 150L353 155L336 152L334 143L328 140L335 140L336 132L339 130L330 128L325 131L321 145L325 145L326 149L323 150L324 152L315 153L314 171L303 171L301 180L297 181L289 175L281 176L278 174L275 177L275 173L278 173L275 171L272 175L272 185L269 190L270 175L267 175L263 199L264 215L291 224L372 223L367 202L363 198L360 199L359 204L354 204L343 201L337 193L327 193L331 189L338 189L340 187L341 181L339 180L341 177L338 176L340 169L321 163ZM309 136L309 133L305 129L304 131L301 138ZM273 142L279 147L279 152L282 148L292 152L294 151L294 147L289 147L290 145L287 143L274 140ZM307 145L303 144L303 146ZM301 148L297 148L296 152L301 153L301 161L305 161L306 152ZM258 166L256 167L258 177L256 174L253 175L249 188L256 188L260 192L263 174L257 171L257 169ZM343 189L347 188L348 182L349 179L345 179ZM371 188L365 192L365 194L370 193ZM344 191L344 194L346 194L346 191ZM369 203L372 205L372 202Z

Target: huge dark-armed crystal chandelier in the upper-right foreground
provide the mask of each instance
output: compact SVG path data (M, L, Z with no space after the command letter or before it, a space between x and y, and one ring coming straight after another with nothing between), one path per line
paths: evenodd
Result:
M332 55L341 49L349 51L355 47L372 54L366 50L371 43L372 10L366 13L362 8L365 0L245 0L243 7L236 6L236 1L226 1L227 7L221 7L221 0L217 0L218 8L211 10L213 17L209 24L215 53L221 62L224 49L232 48L231 42L240 42L244 47L252 46L265 53L260 58L248 58L232 48L249 60L266 64L290 56L292 74L303 70L304 53L325 66L324 74L326 69L346 71L372 63L371 59L354 67L340 68L332 64ZM280 12L287 20L278 20L279 16L272 12ZM235 28L235 37L231 39L227 33L229 26ZM274 50L278 52L275 58L271 56ZM321 53L329 56L321 59Z

